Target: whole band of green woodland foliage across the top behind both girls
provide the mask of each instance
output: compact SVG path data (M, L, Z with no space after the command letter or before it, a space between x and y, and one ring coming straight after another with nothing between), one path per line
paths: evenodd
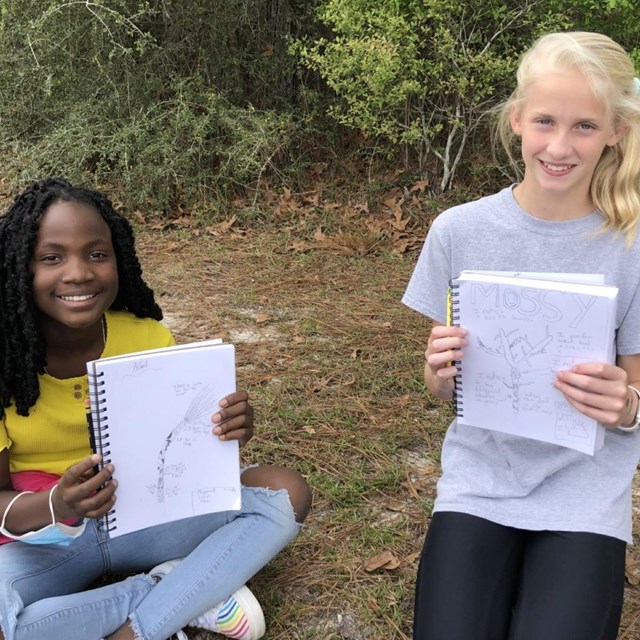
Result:
M353 154L482 188L481 114L535 36L600 30L640 58L632 0L523 2L0 0L4 180L65 175L167 216Z

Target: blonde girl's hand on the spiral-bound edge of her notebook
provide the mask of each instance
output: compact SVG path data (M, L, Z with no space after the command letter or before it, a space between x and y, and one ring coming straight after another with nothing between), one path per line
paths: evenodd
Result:
M434 325L429 334L424 379L429 391L443 400L450 400L453 395L453 378L458 373L453 361L462 359L466 336L467 331L461 327L441 324Z

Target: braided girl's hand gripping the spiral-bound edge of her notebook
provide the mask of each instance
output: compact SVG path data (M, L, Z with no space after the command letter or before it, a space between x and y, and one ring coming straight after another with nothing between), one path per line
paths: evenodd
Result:
M94 475L93 468L101 460L99 454L88 456L69 467L53 492L56 520L98 518L116 501L117 480L112 479L114 466L106 465Z

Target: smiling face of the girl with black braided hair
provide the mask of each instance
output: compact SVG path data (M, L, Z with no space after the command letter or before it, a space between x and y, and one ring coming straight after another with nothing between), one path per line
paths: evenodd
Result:
M99 326L118 293L111 231L88 204L58 201L47 208L31 270L45 334Z

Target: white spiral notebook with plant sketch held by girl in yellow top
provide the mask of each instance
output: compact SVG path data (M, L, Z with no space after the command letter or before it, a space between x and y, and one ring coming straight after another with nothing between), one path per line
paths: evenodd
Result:
M115 466L117 500L100 526L116 537L240 509L238 441L212 434L235 391L235 350L210 340L87 363L92 446Z

